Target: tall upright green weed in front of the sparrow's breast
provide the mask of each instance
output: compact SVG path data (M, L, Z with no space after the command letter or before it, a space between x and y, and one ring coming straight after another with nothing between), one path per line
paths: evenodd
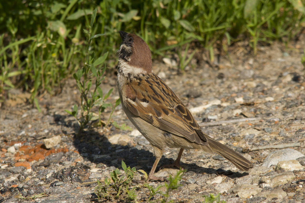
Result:
M103 68L97 69L96 67L100 64L103 64L108 56L108 52L103 54L101 57L95 59L95 53L93 50L91 50L91 44L93 40L97 37L103 36L105 34L95 34L93 32L93 23L95 21L96 17L96 9L93 11L91 15L91 22L89 30L84 30L84 33L87 37L87 54L84 66L81 69L78 69L76 73L73 74L74 79L77 83L77 88L81 93L81 116L78 117L78 107L77 105L74 105L73 111L66 110L67 113L73 115L80 125L79 132L83 130L83 128L89 123L89 121L99 119L99 123L101 124L101 113L104 112L104 110L107 107L111 107L111 113L109 115L109 119L104 124L109 124L110 118L113 114L113 111L115 107L117 107L120 104L120 99L116 101L116 103L113 105L111 103L107 103L106 100L112 93L113 89L110 89L108 93L103 95L103 91L100 87L102 84L102 81L105 79L105 76L102 77L106 71L106 64L103 66ZM94 83L95 87L92 90L92 83ZM90 95L90 96L89 96ZM98 116L94 116L94 113L92 112L92 108L94 106L99 107L99 114Z

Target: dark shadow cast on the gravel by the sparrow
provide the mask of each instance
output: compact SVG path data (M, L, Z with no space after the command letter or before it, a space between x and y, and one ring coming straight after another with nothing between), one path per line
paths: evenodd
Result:
M79 127L72 123L66 123L66 116L54 115L54 121L56 124L63 125L65 127L73 127L77 132ZM129 131L118 131L121 134L127 134ZM123 160L127 166L135 167L137 170L142 169L149 173L152 165L155 161L155 157L152 152L149 152L149 148L145 145L134 145L131 143L112 144L108 138L103 134L95 131L95 129L88 129L82 131L79 134L74 134L73 145L83 157L85 161L99 164L102 163L107 167L112 167L110 170L121 168L121 161ZM174 157L176 158L176 157ZM162 156L158 164L156 172L160 169L160 166L168 163L173 163L173 158L167 158ZM213 169L198 166L196 163L182 163L186 166L187 171L193 171L195 173L207 173L224 175L230 178L242 177L248 175L248 173L232 172L231 170Z

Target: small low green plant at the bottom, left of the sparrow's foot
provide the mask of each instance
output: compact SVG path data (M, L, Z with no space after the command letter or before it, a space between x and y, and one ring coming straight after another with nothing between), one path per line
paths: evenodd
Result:
M95 187L95 194L97 195L98 199L120 199L121 201L135 201L135 188L131 188L131 183L136 169L135 167L131 169L130 166L127 168L123 160L122 168L125 175L122 174L119 169L116 169L110 173L110 178L113 184L110 184L111 180L108 178L104 180L104 184L98 180L98 186ZM142 173L144 172L143 170L140 171Z

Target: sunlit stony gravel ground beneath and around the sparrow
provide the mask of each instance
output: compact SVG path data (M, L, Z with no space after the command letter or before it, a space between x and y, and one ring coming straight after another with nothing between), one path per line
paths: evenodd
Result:
M186 104L203 131L254 165L243 173L221 156L185 150L181 164L187 172L170 199L202 202L203 195L221 193L221 200L228 203L305 202L303 47L304 39L286 47L274 43L258 47L254 57L249 46L239 42L228 54L220 55L217 65L209 65L198 52L191 61L195 68L187 67L183 73L175 67L176 55L153 61L154 72ZM109 97L114 101L118 98L115 72L104 82L104 92L114 88ZM131 130L109 126L75 134L78 124L64 110L79 105L79 97L75 82L67 80L59 95L40 96L40 113L26 104L28 93L9 91L0 110L0 202L96 201L97 184L84 183L109 177L116 168L123 171L121 160L137 170L150 171L155 160L152 147L121 106L112 120L127 124ZM294 147L261 149L278 144ZM173 162L178 151L165 149L157 170ZM175 168L165 168L157 175L176 172ZM149 184L157 187L164 183ZM35 198L30 198L34 194ZM136 194L138 202L149 197L145 187L138 187Z

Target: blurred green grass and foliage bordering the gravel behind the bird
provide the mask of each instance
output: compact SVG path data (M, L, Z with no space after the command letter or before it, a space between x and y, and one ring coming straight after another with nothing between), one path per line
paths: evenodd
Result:
M9 88L23 88L35 102L38 94L60 92L62 81L85 63L83 29L97 9L90 46L95 58L109 52L107 67L116 65L118 30L136 33L152 54L176 52L180 68L191 41L209 51L221 42L223 50L248 40L285 43L305 27L304 0L10 0L0 2L0 101ZM37 101L37 100L36 100Z

